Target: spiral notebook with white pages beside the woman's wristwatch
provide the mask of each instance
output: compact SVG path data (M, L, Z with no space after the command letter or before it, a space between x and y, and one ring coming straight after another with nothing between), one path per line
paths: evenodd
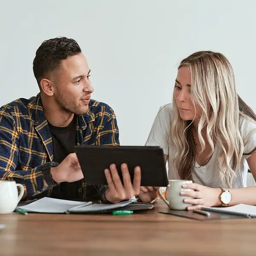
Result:
M256 206L248 204L238 204L231 207L202 207L204 211L221 212L227 214L241 215L247 218L256 217Z

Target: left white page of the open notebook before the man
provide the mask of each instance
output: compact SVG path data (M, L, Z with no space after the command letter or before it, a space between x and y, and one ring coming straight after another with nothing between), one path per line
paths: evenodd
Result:
M44 197L30 204L20 206L19 208L25 210L26 212L64 213L70 207L84 203L85 202Z

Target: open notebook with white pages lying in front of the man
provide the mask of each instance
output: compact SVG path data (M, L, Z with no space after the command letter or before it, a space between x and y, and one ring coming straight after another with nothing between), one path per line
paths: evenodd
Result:
M100 212L125 207L135 201L137 199L131 199L117 204L94 204L91 201L79 202L44 197L30 204L19 206L19 208L26 212L41 213Z

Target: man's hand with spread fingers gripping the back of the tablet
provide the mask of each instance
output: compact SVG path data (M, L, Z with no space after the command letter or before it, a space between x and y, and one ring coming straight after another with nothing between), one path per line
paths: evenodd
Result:
M126 163L121 165L121 170L124 184L122 184L115 164L111 164L110 169L105 169L105 176L108 181L108 189L105 192L105 197L111 203L128 200L140 194L140 167L137 166L134 169L133 183L131 182L131 176Z

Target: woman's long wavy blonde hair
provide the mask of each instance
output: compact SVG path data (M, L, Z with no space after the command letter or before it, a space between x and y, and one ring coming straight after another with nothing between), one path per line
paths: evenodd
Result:
M198 124L198 137L201 152L206 142L201 134L206 127L207 140L212 155L215 144L218 145L217 166L222 186L232 187L236 170L244 153L244 142L239 131L240 116L247 116L256 121L252 109L238 96L233 68L227 58L218 52L200 51L181 61L180 67L186 66L191 74L191 98L202 114ZM193 136L193 120L184 121L173 95L174 120L170 127L170 140L177 148L174 164L181 179L193 180L197 154ZM251 154L248 152L247 154Z

